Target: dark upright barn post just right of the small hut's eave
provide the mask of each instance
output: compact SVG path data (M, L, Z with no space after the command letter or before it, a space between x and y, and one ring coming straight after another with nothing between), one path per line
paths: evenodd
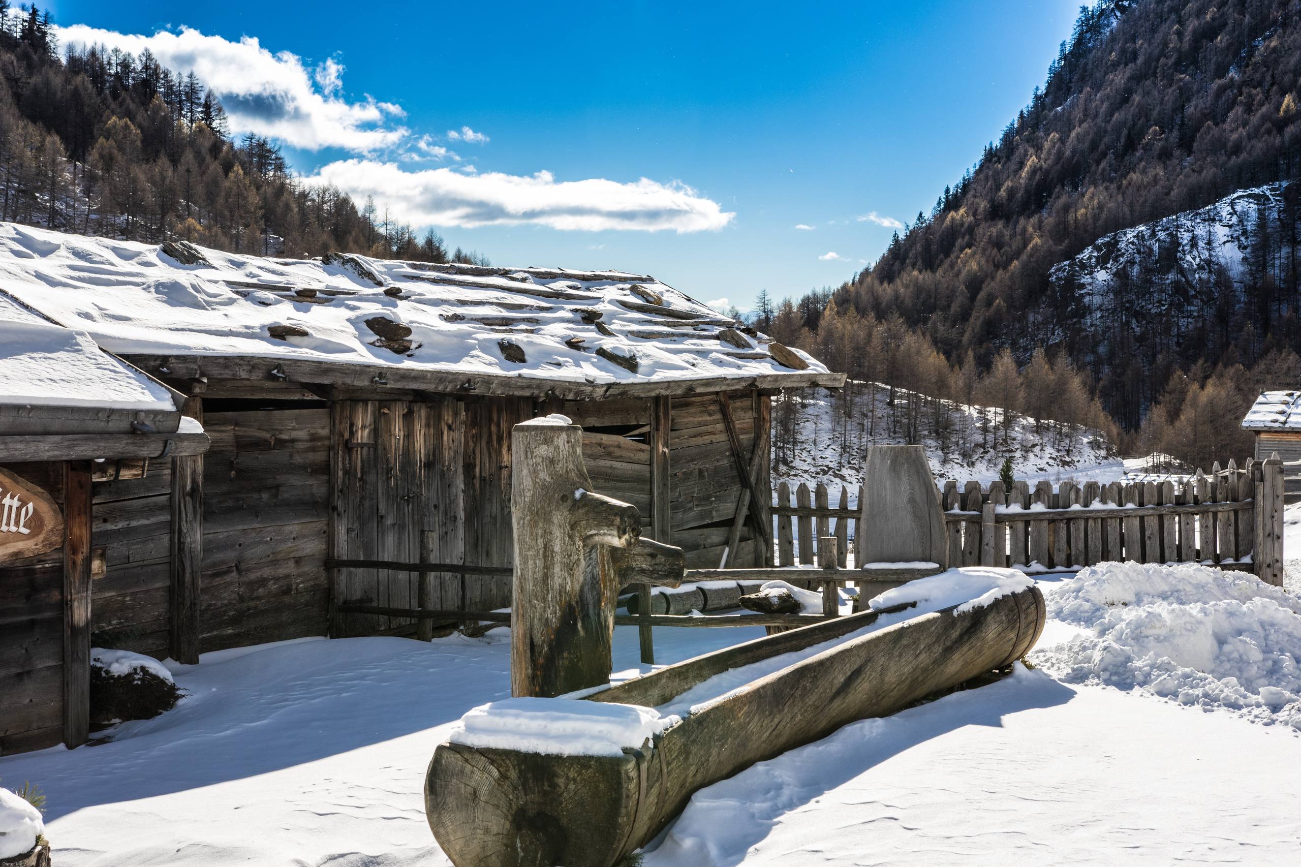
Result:
M181 414L203 420L203 398L189 397ZM203 456L172 458L172 624L168 652L199 661L199 573L203 568Z

